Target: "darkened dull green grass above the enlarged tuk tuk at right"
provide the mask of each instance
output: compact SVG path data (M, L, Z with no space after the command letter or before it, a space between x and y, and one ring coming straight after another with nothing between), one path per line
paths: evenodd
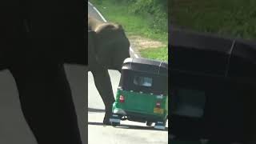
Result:
M172 0L169 20L174 26L252 39L256 37L254 0Z

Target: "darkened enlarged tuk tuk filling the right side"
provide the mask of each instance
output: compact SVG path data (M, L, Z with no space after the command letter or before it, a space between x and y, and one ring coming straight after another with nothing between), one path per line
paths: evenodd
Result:
M171 141L253 139L256 45L182 30L170 34Z

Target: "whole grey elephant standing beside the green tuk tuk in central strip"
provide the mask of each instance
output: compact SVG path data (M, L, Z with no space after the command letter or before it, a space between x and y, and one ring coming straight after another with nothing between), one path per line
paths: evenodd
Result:
M88 70L106 108L103 124L109 125L114 94L108 70L122 70L122 62L130 58L130 42L121 25L100 22L88 15Z

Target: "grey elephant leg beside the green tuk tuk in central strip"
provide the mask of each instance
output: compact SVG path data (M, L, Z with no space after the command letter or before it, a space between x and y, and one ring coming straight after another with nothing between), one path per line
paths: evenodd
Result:
M108 73L108 70L102 66L98 66L94 70L91 70L91 72L94 75L94 82L98 93L101 95L102 101L105 104L106 114L103 123L110 124L109 119L112 113L112 105L114 103L110 74Z

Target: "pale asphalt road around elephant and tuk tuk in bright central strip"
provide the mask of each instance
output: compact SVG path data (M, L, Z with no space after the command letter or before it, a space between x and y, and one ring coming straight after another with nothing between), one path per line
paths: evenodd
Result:
M88 4L88 13L99 20L102 18ZM134 53L130 52L134 57ZM118 71L109 70L114 94L118 88L120 74ZM140 122L121 122L121 126L103 126L104 109L102 99L94 86L94 78L88 73L88 144L167 144L168 131L154 130L153 127L146 126Z

